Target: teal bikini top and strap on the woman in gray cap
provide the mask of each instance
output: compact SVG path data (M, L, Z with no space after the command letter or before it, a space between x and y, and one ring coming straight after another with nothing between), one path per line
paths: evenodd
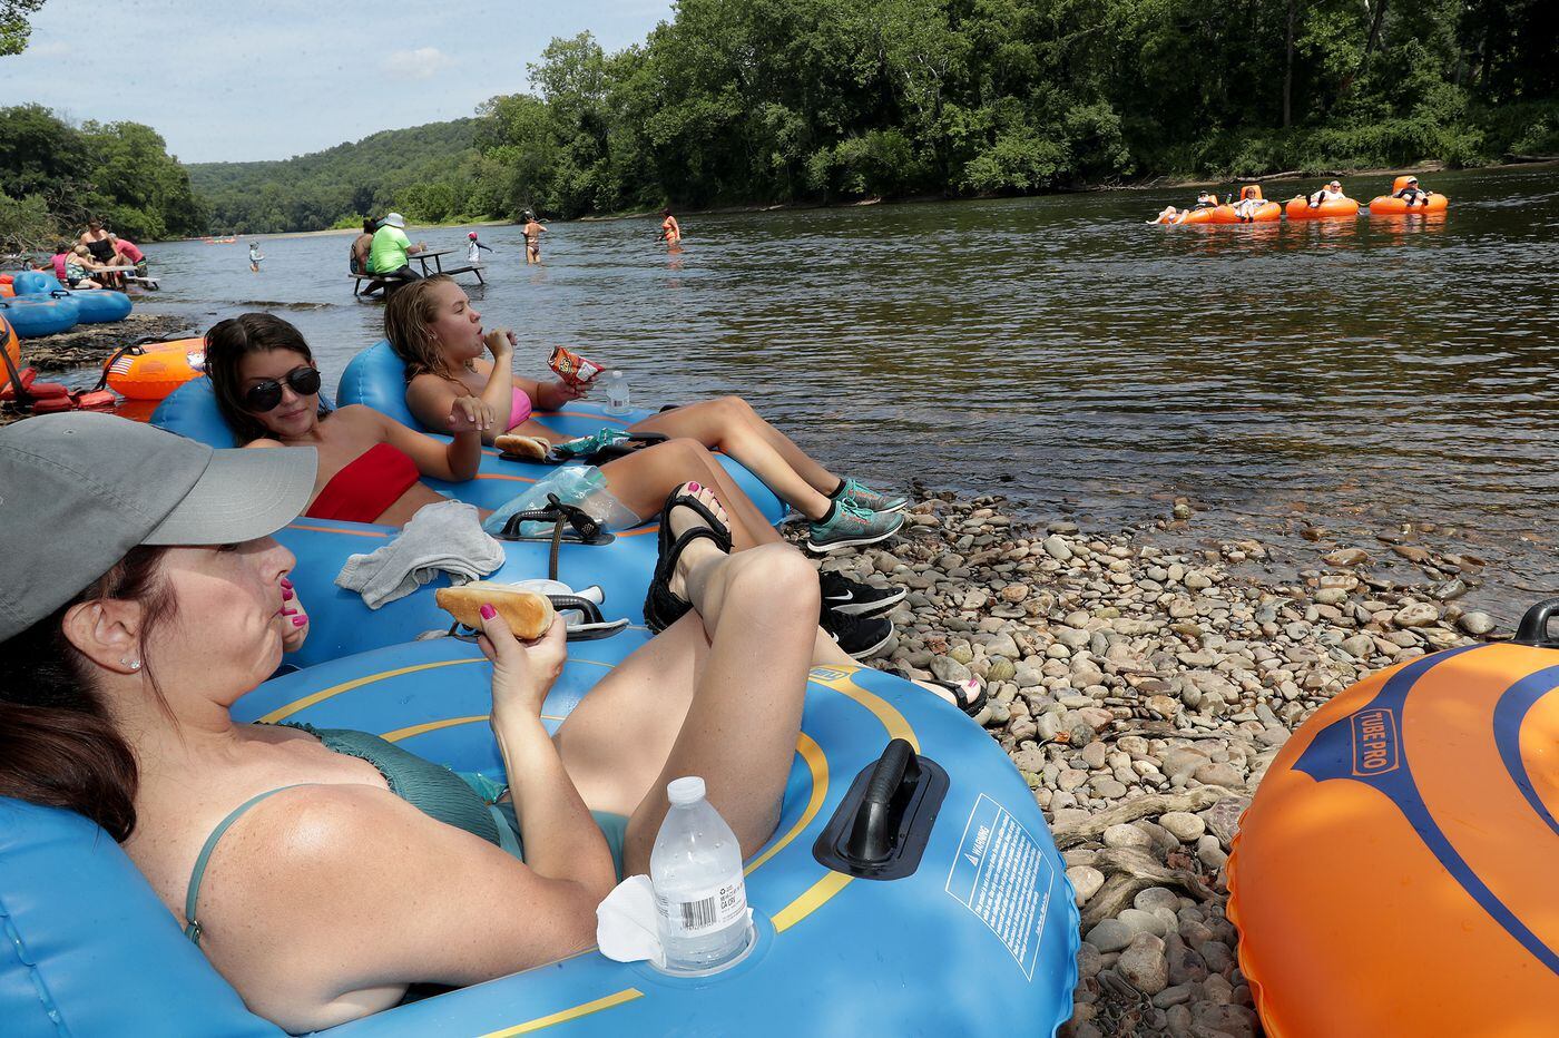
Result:
M371 736L366 731L352 731L349 728L313 728L312 725L285 726L309 733L323 742L326 750L368 761L371 765L379 768L380 775L385 776L385 782L388 782L391 793L412 804L424 815L455 826L457 829L465 829L472 835L482 837L488 843L504 848L514 857L522 859L519 839L511 823L472 787L472 782L483 782L483 789L496 800L497 793L502 792L502 787L491 782L491 779L483 779L483 776L471 776L469 779L461 778L440 764L424 761L415 753L408 753L393 742L385 742L379 736ZM282 786L281 789L267 790L259 796L251 796L239 804L217 824L215 829L210 831L210 835L206 837L206 843L200 849L200 857L195 859L195 870L190 873L189 891L184 896L184 918L189 920L189 926L184 927L184 935L196 944L200 944L201 926L195 915L195 907L200 901L200 884L206 876L206 865L210 860L212 851L217 849L217 842L221 840L221 835L249 807L260 803L267 796L273 796L282 790L298 789L298 786L307 786L307 782Z

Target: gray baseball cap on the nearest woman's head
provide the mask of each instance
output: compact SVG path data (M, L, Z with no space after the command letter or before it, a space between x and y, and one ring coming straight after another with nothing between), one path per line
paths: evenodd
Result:
M274 533L313 493L312 447L214 450L109 415L0 429L0 641L70 602L137 544Z

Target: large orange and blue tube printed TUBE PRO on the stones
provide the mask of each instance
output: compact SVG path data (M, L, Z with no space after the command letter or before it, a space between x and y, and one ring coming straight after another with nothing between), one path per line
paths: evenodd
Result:
M1534 614L1542 611L1534 623ZM1283 747L1228 860L1239 968L1274 1038L1551 1036L1559 641L1377 673Z

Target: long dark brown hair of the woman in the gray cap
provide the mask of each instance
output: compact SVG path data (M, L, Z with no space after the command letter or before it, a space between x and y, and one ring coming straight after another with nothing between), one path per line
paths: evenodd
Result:
M145 651L147 636L176 611L159 566L165 552L131 549L90 588L0 644L0 795L80 812L118 843L136 829L140 773L94 687L92 662L65 637L64 620L83 602L139 602L143 673L167 711Z

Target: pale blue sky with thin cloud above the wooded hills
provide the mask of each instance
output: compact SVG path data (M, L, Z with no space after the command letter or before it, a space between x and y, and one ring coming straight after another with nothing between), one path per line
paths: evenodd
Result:
M145 123L184 162L287 159L474 114L585 30L608 50L670 0L47 0L0 104Z

